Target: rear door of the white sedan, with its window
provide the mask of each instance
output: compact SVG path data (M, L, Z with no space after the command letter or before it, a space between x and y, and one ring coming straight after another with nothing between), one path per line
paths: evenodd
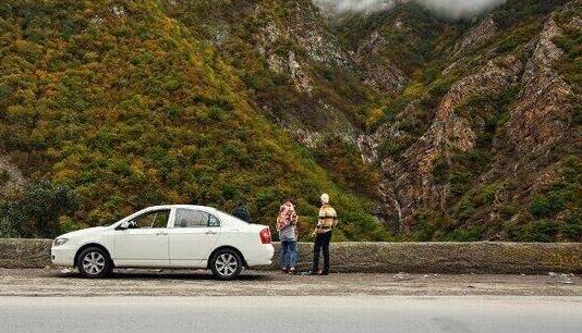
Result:
M179 208L168 233L171 266L202 268L220 236L220 221L202 210Z

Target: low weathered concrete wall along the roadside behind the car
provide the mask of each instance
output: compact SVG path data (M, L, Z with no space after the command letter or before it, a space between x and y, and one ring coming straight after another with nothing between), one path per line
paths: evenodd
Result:
M50 266L50 239L0 239L1 268ZM271 269L277 268L279 244ZM313 244L299 244L310 269ZM331 270L368 273L582 273L582 243L332 243Z

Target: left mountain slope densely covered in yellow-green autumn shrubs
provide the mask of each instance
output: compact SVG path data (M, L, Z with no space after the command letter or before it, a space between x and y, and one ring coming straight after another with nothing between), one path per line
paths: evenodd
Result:
M82 196L83 209L61 218L63 227L148 205L228 210L239 200L248 201L256 222L272 224L291 196L308 234L318 196L329 192L347 212L338 238L386 237L367 200L334 184L270 123L245 77L167 5L0 5L0 149L25 177L69 184ZM53 236L33 226L20 234Z

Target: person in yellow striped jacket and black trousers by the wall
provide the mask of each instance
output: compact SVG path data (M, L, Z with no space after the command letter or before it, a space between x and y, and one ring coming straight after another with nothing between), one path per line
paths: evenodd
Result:
M329 205L329 195L322 195L322 208L319 208L319 220L313 232L315 244L313 246L313 269L310 275L329 274L329 242L331 231L338 224L338 214L334 207ZM324 252L324 269L319 271L319 252Z

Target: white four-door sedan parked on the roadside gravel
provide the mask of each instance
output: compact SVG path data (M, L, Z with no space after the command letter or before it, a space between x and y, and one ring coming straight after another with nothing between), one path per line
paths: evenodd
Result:
M266 225L209 207L157 206L57 237L51 259L77 267L86 278L102 278L113 268L183 268L210 269L231 280L243 267L270 264L274 252Z

